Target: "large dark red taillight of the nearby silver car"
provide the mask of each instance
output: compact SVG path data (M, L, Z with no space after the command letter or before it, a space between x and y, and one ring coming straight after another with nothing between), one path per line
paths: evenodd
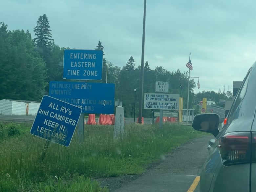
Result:
M219 150L223 165L250 162L250 132L227 133L219 140Z

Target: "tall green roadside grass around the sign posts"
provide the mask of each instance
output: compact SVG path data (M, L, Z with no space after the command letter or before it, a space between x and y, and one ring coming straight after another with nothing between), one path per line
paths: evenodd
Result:
M40 191L48 192L56 186L69 188L75 181L90 183L87 178L140 174L149 163L182 143L207 135L178 124L163 124L161 129L158 125L126 124L124 139L116 141L114 126L86 125L83 143L78 142L76 133L69 147L50 142L40 161L46 140L31 135L30 128L0 124L0 131L7 133L0 141L0 191L23 192L41 187ZM56 178L65 182L58 183ZM50 185L53 187L46 189ZM94 186L95 191L107 191L96 183Z

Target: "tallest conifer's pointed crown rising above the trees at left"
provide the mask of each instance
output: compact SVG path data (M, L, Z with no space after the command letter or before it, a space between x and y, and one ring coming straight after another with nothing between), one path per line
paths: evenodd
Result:
M40 16L36 22L36 26L34 28L35 36L34 43L35 46L41 49L49 48L51 45L52 39L52 33L49 29L50 23L48 21L48 18L46 14L43 14L43 16Z

